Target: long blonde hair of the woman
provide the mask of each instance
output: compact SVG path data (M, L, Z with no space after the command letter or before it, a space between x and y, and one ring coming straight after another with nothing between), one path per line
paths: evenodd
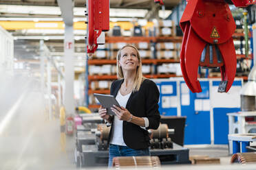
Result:
M134 48L137 52L139 66L137 66L136 76L134 78L133 91L138 91L138 90L140 90L140 85L146 79L146 77L143 77L143 75L142 75L142 62L141 62L141 58L140 58L140 53L138 52L138 49L136 47L134 47L134 45L125 45L124 47L122 47L122 49L125 49L125 47ZM121 68L121 66L118 65L118 61L121 58L122 49L120 49L118 51L118 55L116 57L116 73L117 73L118 79L124 78L124 74L122 73L122 68Z

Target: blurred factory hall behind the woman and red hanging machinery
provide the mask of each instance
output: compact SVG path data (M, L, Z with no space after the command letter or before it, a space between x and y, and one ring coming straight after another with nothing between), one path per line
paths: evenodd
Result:
M109 32L92 56L85 3L0 0L1 168L106 169L109 127L94 93L110 93L118 50L127 44L138 48L143 75L160 91L164 134L151 132L154 165L239 169L231 162L244 159L256 165L256 5L229 5L237 58L231 89L217 93L220 69L200 68L202 93L192 93L180 69L185 0L109 0ZM233 156L240 152L250 154Z

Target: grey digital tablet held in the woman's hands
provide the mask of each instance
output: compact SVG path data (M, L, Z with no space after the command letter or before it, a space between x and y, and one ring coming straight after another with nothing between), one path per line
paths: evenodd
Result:
M120 105L118 104L118 101L116 101L116 98L114 95L103 95L103 94L98 94L94 93L94 97L100 101L100 104L103 106L103 108L107 108L107 114L109 115L116 115L116 113L111 111L111 108L113 108L113 105L118 106L119 108Z

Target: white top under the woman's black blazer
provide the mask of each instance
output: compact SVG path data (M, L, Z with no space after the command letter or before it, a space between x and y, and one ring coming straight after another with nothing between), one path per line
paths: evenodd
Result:
M125 108L130 95L131 93L123 96L121 95L120 90L118 90L118 94L116 95L116 101L118 101L118 104L120 106ZM114 116L114 127L112 128L112 135L109 143L114 145L126 146L125 141L122 138L122 121L120 121L116 116Z

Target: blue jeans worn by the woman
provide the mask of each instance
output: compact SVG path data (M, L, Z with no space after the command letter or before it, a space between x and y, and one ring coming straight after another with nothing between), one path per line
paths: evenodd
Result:
M127 146L109 144L109 167L112 167L113 158L116 156L150 156L149 148L131 149Z

